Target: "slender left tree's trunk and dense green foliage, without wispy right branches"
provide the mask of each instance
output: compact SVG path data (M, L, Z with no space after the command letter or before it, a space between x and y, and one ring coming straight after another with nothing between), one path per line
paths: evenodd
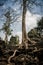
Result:
M3 24L1 31L5 32L5 42L8 44L8 36L11 35L10 23L11 23L11 16L10 11L6 12L5 14L6 22Z

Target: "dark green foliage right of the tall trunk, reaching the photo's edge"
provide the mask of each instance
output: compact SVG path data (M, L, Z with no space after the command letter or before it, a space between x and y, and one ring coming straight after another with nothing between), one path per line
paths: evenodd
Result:
M41 34L43 32L43 17L38 21L37 27L32 29L30 32L28 32L28 37L30 38L38 38L41 37Z

